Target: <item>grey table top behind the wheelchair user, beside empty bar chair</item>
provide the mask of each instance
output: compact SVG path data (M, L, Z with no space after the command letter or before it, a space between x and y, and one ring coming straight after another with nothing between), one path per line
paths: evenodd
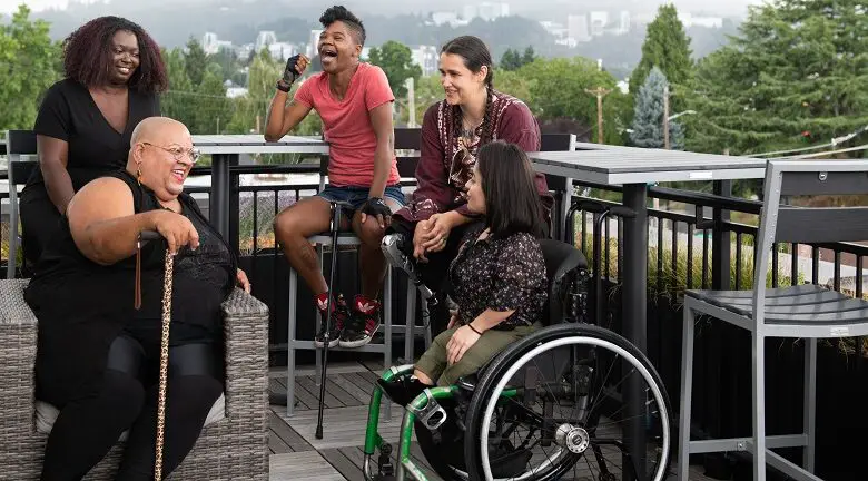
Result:
M527 155L540 173L609 185L763 178L767 163L750 157L611 146Z

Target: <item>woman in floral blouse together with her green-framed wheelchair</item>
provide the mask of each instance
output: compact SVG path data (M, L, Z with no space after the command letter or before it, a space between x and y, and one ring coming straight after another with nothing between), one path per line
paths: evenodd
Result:
M365 479L428 479L411 457L414 435L446 480L665 479L662 381L627 340L584 323L586 259L540 238L527 157L514 145L481 147L466 196L484 222L448 268L458 311L415 365L377 380ZM378 432L384 394L406 406L394 464Z

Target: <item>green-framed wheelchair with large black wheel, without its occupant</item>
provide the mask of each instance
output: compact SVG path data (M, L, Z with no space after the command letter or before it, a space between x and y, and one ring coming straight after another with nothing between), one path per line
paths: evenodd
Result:
M665 479L672 418L660 375L625 338L589 323L585 256L570 244L541 244L549 286L544 327L476 374L430 387L407 404L395 460L392 444L378 433L383 392L375 384L365 434L366 480L427 480L411 458L414 433L445 480ZM600 292L599 274L593 277ZM382 377L412 373L413 365L394 366ZM643 410L628 413L620 391L637 379ZM648 441L639 455L630 453L625 436L634 423L641 423Z

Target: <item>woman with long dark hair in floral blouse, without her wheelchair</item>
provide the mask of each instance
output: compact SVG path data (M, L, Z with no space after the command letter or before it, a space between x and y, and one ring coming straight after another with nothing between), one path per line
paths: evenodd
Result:
M539 238L544 233L527 156L514 144L486 144L466 189L470 210L485 222L465 234L450 266L451 297L458 311L416 363L413 376L379 380L403 405L428 386L451 385L476 372L541 326L546 282Z

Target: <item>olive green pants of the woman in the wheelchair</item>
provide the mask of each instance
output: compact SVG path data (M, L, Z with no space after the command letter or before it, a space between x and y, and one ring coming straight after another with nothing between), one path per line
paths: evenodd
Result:
M415 369L427 374L440 386L455 384L458 377L475 373L506 346L533 333L542 325L536 323L532 326L517 326L512 331L485 331L482 337L464 353L458 362L450 365L446 361L446 344L458 327L440 333L415 365Z

